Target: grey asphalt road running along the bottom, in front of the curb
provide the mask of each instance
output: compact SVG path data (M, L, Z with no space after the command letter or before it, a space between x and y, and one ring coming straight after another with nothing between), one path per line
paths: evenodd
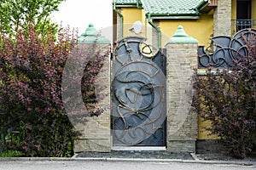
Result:
M0 161L0 170L255 170L256 166L134 161Z

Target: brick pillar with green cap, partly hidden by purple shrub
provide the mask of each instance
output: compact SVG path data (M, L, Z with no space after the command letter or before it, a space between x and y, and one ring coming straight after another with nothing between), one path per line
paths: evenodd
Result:
M99 54L107 54L110 42L107 38L97 34L96 29L90 25L84 34L79 37L81 52L88 53L89 57ZM83 57L81 55L80 57ZM86 57L86 55L85 55ZM81 62L84 59L81 59ZM100 116L79 116L73 120L73 126L79 132L74 141L74 152L82 151L111 151L110 135L110 56L104 60L102 70L96 78L95 94L100 98L94 105L96 109L104 111ZM104 97L101 99L101 95ZM93 110L93 109L92 109Z

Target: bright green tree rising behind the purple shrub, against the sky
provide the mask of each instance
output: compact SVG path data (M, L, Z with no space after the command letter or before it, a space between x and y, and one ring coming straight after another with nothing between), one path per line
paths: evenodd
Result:
M51 23L49 16L58 10L63 1L65 0L1 0L0 31L15 33L20 26L28 29L31 22L41 35L49 29L56 31L57 25Z

